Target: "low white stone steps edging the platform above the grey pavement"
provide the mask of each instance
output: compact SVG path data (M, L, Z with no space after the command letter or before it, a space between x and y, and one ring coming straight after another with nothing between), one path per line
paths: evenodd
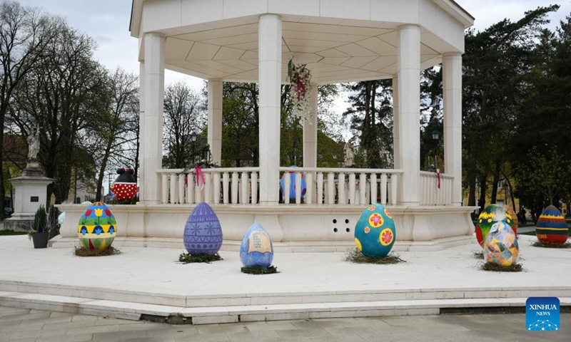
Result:
M428 299L403 301L349 301L308 304L264 304L249 306L183 307L106 301L100 299L0 292L0 304L22 309L61 311L131 320L174 324L233 323L309 318L433 315L451 310L480 311L502 309L525 312L527 297L482 299ZM560 298L562 307L571 306L571 297Z

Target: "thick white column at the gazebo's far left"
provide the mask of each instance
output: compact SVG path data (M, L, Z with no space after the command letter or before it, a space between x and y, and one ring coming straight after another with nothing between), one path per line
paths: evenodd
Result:
M160 33L145 34L145 63L143 63L141 108L142 123L139 133L141 151L141 201L160 202L161 179L156 170L162 167L163 101L165 78L165 37Z

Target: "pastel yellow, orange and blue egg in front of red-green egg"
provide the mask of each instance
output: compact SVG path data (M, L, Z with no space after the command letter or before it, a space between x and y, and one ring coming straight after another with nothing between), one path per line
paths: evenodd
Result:
M517 261L518 254L512 227L505 221L492 224L484 242L484 259L497 266L510 267Z

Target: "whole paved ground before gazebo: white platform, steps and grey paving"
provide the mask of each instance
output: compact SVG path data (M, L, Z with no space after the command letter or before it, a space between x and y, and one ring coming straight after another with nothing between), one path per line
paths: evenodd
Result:
M2 237L0 341L571 341L571 249L533 239L520 237L519 273L481 271L474 243L402 252L407 262L395 265L278 253L280 273L252 276L236 252L181 264L182 249L123 245L119 255L81 258ZM560 331L525 330L530 296L560 299ZM139 320L147 317L193 325Z

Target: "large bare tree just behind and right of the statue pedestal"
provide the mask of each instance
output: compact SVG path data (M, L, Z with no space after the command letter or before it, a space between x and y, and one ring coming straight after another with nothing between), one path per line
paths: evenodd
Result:
M22 79L11 106L11 120L27 135L39 125L39 160L56 203L68 198L72 175L92 182L95 170L90 153L89 127L108 103L106 71L93 59L95 41L61 21L41 53L41 66Z

